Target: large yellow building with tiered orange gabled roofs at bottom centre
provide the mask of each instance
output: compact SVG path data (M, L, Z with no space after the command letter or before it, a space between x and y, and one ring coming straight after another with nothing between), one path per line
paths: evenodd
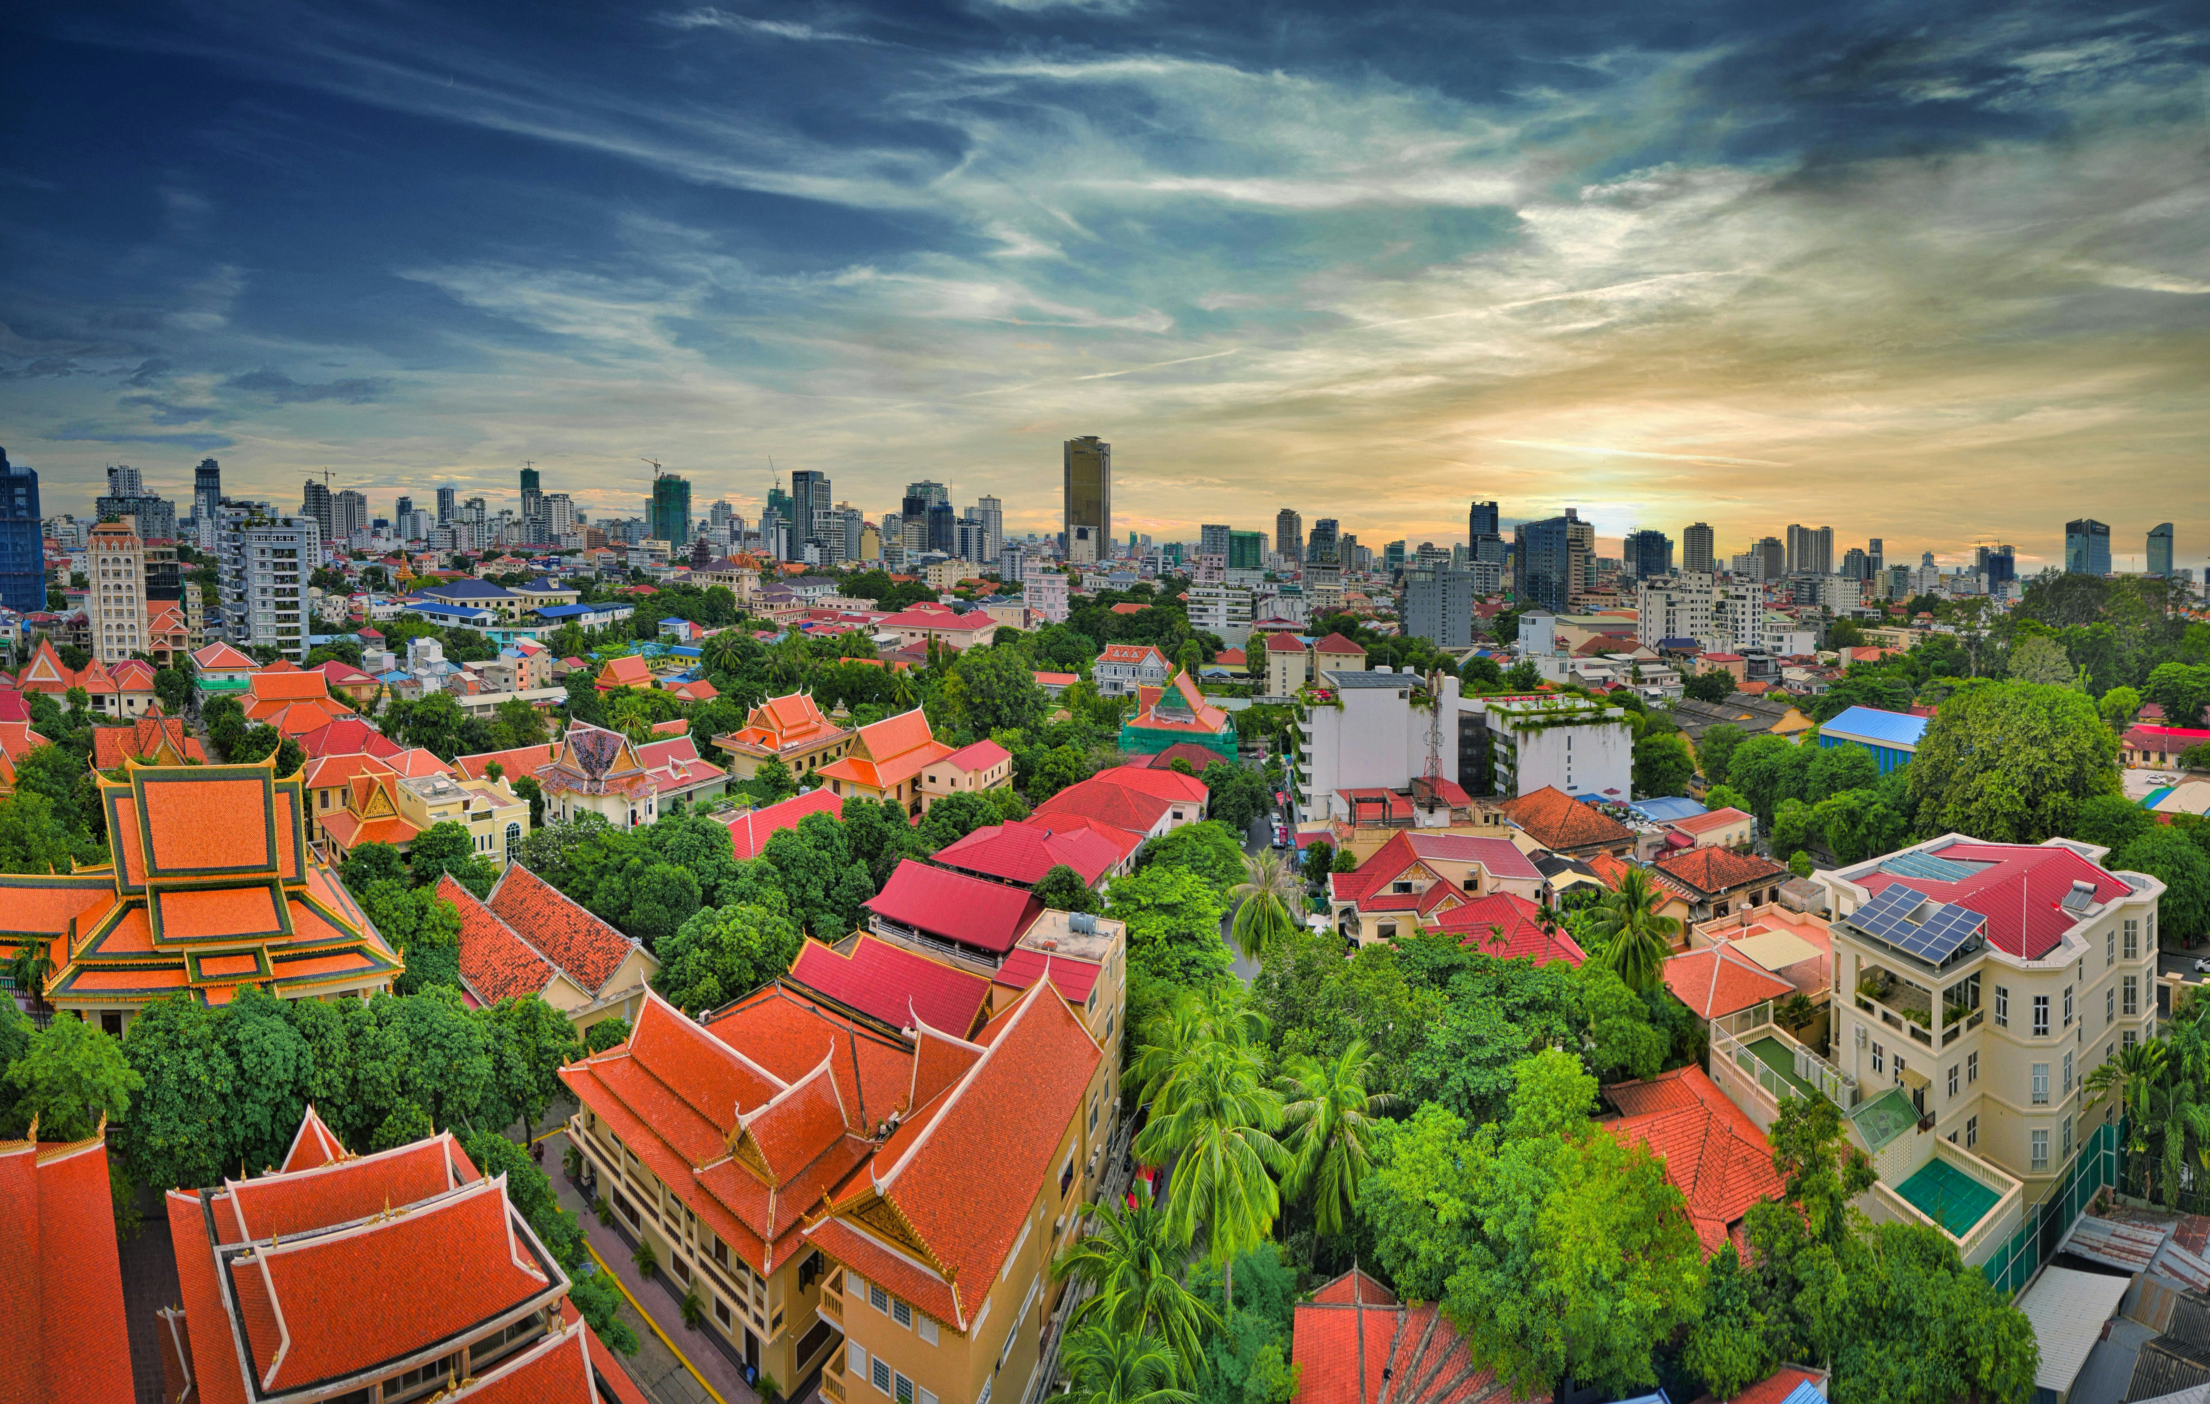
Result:
M926 966L809 946L705 1024L648 993L628 1044L561 1070L619 1229L690 1282L703 1331L776 1380L820 1369L831 1400L1028 1377L1118 1117L1118 1068L1054 979L981 1008ZM694 1227L667 1227L676 1205Z

